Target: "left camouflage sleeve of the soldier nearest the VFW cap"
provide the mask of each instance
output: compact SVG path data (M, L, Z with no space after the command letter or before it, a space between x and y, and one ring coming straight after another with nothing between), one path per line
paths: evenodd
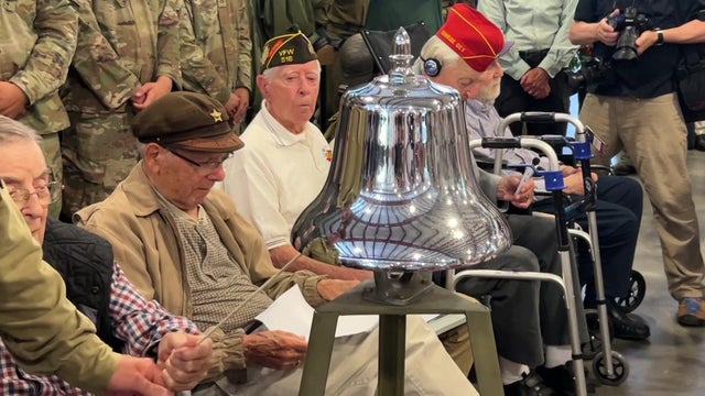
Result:
M182 75L185 89L203 90L225 103L230 99L230 87L227 86L227 81L220 77L210 59L196 43L193 28L194 18L196 15L194 15L191 1L184 2L181 11L178 38L181 41Z

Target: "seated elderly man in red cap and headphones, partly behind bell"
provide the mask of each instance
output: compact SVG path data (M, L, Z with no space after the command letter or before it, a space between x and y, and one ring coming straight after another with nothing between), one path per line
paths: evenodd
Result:
M502 70L498 57L510 46L499 28L485 15L467 4L456 4L449 10L446 23L422 47L417 67L431 80L457 89L464 101L485 99L482 95L486 92L499 90L498 77ZM489 88L480 92L480 84ZM502 183L518 178L496 177L498 190ZM533 188L533 183L531 186ZM525 271L534 267L532 263L538 261L536 270L560 276L554 219L509 215L508 221L513 245L505 255L477 267ZM573 268L577 274L575 265ZM576 278L577 275L574 280ZM466 278L458 285L459 292L474 297L492 296L492 324L506 384L505 394L550 395L553 389L571 394L575 383L572 369L566 365L571 360L571 348L562 290L545 283L535 285L538 295L521 298L517 292L508 293L509 287L524 288L531 283L510 286L511 283L517 282ZM577 283L574 287L579 290ZM576 306L582 308L579 298L576 298ZM578 309L578 319L584 324L582 309ZM585 336L584 326L581 330Z

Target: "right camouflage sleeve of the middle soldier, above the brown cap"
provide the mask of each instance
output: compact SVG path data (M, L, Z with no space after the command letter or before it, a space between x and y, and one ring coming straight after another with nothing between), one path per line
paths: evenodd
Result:
M183 0L166 0L159 16L159 33L156 36L156 76L166 76L174 81L174 86L182 86L181 53L178 42L178 16L184 6Z

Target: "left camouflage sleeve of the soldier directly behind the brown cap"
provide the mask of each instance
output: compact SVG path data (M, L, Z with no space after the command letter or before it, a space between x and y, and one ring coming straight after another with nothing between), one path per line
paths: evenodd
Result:
M140 80L122 65L120 56L102 35L90 0L73 1L78 12L74 69L104 106L116 109L130 99Z

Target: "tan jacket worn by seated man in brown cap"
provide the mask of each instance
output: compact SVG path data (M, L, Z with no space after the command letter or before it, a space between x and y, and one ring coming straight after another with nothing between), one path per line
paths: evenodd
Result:
M260 285L276 273L257 230L237 213L232 200L212 190L203 204L230 255L253 284ZM74 215L74 222L102 235L112 244L115 257L126 275L148 299L156 299L173 314L193 317L193 302L186 279L183 246L176 226L160 205L156 193L138 163L130 175L102 202ZM299 285L312 305L322 304L316 290L322 276L299 271L279 277L264 290L272 299ZM242 369L242 332L216 343L226 352L223 369ZM216 340L219 341L219 340Z

